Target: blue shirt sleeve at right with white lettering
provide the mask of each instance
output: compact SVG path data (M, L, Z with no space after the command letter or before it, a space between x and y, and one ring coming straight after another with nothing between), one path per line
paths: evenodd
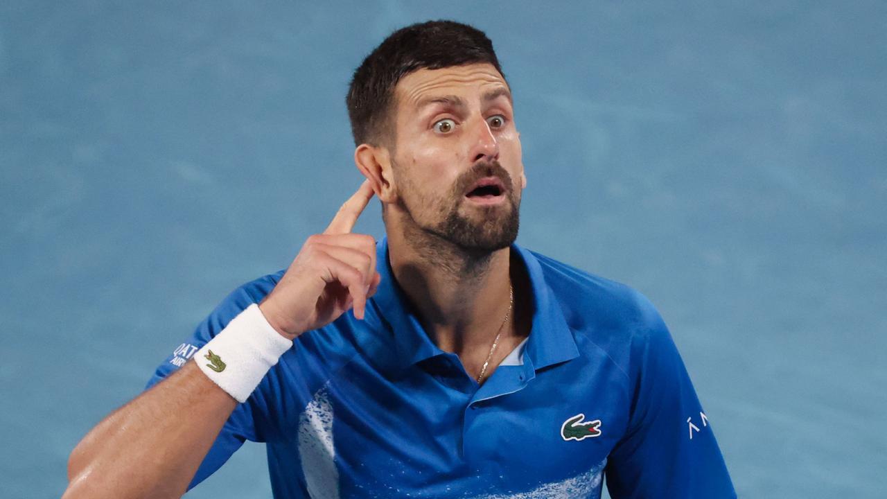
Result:
M658 313L632 340L634 393L624 437L608 457L613 499L736 497L711 422Z

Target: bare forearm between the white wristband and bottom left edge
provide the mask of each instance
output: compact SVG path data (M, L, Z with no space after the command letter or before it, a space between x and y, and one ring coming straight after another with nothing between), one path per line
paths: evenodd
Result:
M189 361L77 444L64 499L183 495L237 403Z

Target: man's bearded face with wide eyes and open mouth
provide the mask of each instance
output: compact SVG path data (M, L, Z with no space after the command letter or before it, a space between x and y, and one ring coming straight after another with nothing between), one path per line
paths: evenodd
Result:
M502 75L490 64L420 69L395 95L391 163L406 216L463 249L514 242L525 183Z

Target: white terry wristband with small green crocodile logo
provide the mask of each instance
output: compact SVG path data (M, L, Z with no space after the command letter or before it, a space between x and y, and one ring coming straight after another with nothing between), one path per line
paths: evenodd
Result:
M293 341L280 335L259 305L249 305L195 355L209 379L239 402L246 402Z

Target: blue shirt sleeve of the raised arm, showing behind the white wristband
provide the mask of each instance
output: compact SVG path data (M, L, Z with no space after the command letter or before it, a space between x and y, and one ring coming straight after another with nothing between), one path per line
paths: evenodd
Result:
M237 317L247 306L260 302L271 291L275 283L276 280L271 276L265 276L235 289L228 297L225 297L222 303L204 321L200 322L192 335L187 337L181 345L178 345L172 354L161 363L145 386L145 390L160 383L178 368L184 366L185 362L191 360L200 347L216 337L228 325L228 322ZM254 393L246 402L239 404L234 409L216 438L216 442L203 459L203 463L200 463L191 485L188 486L189 490L218 470L246 440L264 441L263 414L267 414L264 405L259 394Z

